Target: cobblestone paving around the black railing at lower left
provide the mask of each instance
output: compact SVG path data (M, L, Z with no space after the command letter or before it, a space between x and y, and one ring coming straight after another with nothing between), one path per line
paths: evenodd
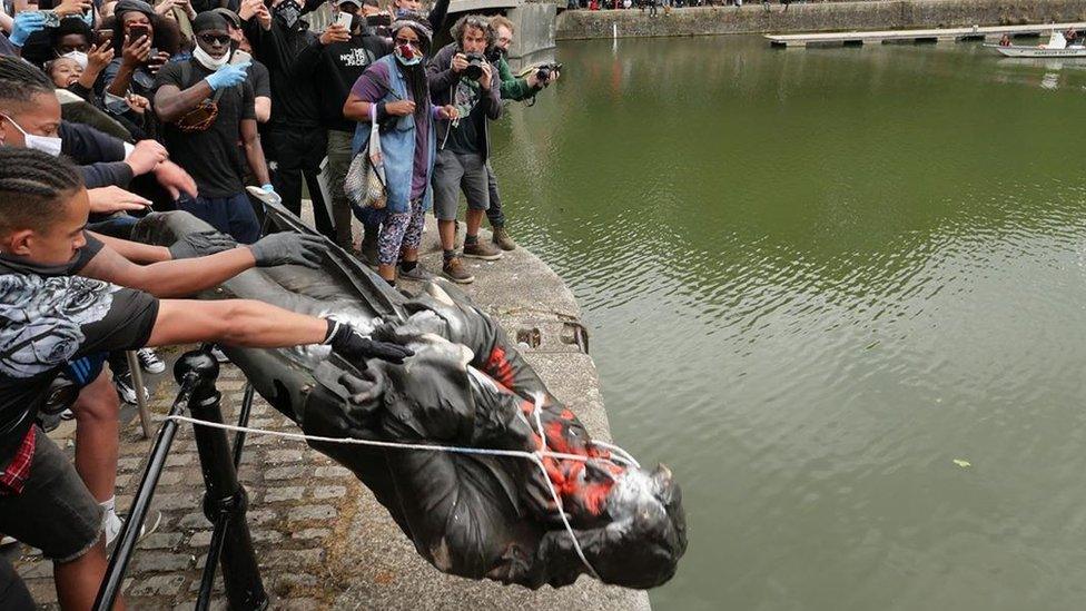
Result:
M177 352L180 354L180 351ZM149 376L157 382L150 403L155 428L169 411L177 386L168 374ZM237 422L245 380L233 366L223 367L218 380L226 422ZM298 427L257 395L250 426L298 432ZM75 426L65 423L50 433L70 453ZM231 434L233 438L233 434ZM139 485L152 440L144 440L138 418L121 432L121 456L117 476L117 506L127 509ZM329 459L296 441L250 435L245 444L239 476L249 494L249 529L260 562L265 588L274 594L277 609L324 607L335 591L317 589L325 555L325 540L349 525L353 503L361 484ZM134 609L191 609L211 538L211 524L200 510L204 480L192 427L182 425L151 504L161 512L158 529L138 545L129 564L125 591ZM338 533L342 535L343 533ZM57 593L52 566L33 550L23 548L17 561L34 600L55 608ZM221 581L216 583L221 597ZM225 607L218 601L217 607ZM324 604L323 604L324 603Z

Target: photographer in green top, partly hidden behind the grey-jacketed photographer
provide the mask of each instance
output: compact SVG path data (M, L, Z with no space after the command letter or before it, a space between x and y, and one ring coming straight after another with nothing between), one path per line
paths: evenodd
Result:
M555 66L546 66L533 70L524 78L513 76L505 57L509 55L510 47L513 46L513 22L509 19L496 16L491 18L491 28L494 30L494 47L491 49L488 59L497 63L497 73L502 79L502 99L523 101L535 100L535 95L545 87L559 79L559 71ZM491 221L494 229L492 240L502 250L516 249L516 243L505 230L505 215L502 211L502 196L497 190L497 177L494 168L486 161L486 187L490 195L490 208L486 209L486 218Z

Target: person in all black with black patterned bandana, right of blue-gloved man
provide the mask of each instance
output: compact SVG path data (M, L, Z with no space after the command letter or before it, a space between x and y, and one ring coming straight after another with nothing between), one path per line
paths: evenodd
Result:
M272 181L283 205L300 216L305 179L316 228L335 239L317 181L327 149L326 130L320 129L313 75L297 70L298 56L314 43L316 35L300 18L303 6L298 1L272 0L270 7L269 12L261 0L246 0L238 16L255 57L268 67L272 77L272 119L261 131Z

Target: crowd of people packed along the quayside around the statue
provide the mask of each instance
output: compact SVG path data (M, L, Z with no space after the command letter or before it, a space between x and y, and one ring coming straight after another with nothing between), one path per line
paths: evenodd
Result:
M307 13L323 6L0 2L0 532L53 561L66 609L91 607L122 524L120 400L146 392L132 387L126 351L140 351L150 372L165 368L150 347L191 342L324 343L361 362L411 356L330 318L178 300L253 267L319 265L322 239L261 237L261 201L300 214L305 185L316 229L391 285L435 275L418 260L431 209L450 280L473 282L464 257L516 248L490 122L557 70L514 76L514 24L500 16L447 24L448 0L426 13L418 0L333 0L330 24L313 31ZM443 28L452 42L435 48ZM383 206L345 188L374 132ZM170 247L131 242L152 209L188 211L216 231ZM50 414L76 421L73 463L42 434ZM0 608L32 604L0 561Z

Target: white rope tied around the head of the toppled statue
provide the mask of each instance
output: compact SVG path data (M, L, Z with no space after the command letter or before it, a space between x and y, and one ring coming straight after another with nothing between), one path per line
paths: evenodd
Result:
M550 475L546 473L546 466L543 464L544 457L569 460L569 461L606 461L606 459L593 457L593 456L582 456L580 454L567 454L564 452L551 452L546 449L546 435L543 430L543 420L541 412L543 411L543 395L533 395L535 401L535 408L533 410L533 416L535 418L535 425L539 431L540 440L542 446L535 452L524 452L521 450L493 450L490 447L463 447L457 445L430 445L423 443L401 443L401 442L388 442L378 440L359 440L355 437L324 437L320 435L306 435L304 433L287 433L285 431L268 431L266 428L254 428L251 426L238 426L236 424L224 424L219 422L211 422L206 420L198 420L189 416L181 415L168 415L167 420L172 420L176 422L187 422L197 426L207 426L209 428L221 428L224 431L235 431L240 433L253 433L256 435L269 435L273 437L282 437L287 440L295 440L302 442L322 442L322 443L338 443L346 445L369 445L374 447L387 447L389 450L419 450L424 452L448 452L451 454L475 454L484 456L503 456L510 459L526 459L535 463L535 466L540 467L540 473L543 475L543 481L546 482L546 487L551 492L551 499L554 501L554 505L559 511L559 518L562 519L562 525L565 526L565 532L569 533L570 540L573 542L573 550L576 552L581 562L589 570L589 574L595 579L600 579L600 574L589 562L589 559L584 555L584 551L581 549L581 542L577 541L576 534L573 532L573 525L570 524L570 520L565 514L565 510L562 506L562 499L559 496L557 490L554 489L554 482L551 481ZM623 462L629 461L630 463L638 465L636 461L630 456L626 451L622 450L616 445L612 445L604 442L592 442L595 445L600 445L621 454L620 460Z

